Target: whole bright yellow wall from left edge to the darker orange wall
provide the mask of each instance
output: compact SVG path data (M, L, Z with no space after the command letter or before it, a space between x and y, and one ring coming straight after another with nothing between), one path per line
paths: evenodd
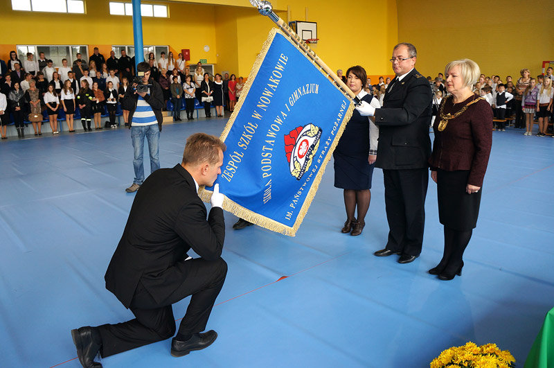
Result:
M242 1L242 0L241 0ZM148 1L145 1L148 2ZM241 6L233 0L169 2L168 19L143 17L145 45L168 44L177 53L190 49L190 62L207 59L216 64L216 71L230 71L247 77L274 23L260 15L247 0ZM88 44L100 53L109 55L112 44L132 45L132 18L109 15L108 0L85 0L86 15L67 15L44 12L12 11L10 0L0 0L0 24L4 33L0 42L0 58L8 59L16 44ZM162 3L162 1L157 1ZM343 69L360 64L369 75L391 74L389 58L397 41L396 0L358 1L354 8L339 8L332 0L304 0L301 4L290 0L274 0L277 14L287 20L316 21L319 44L314 51L331 69ZM289 9L289 13L287 13ZM348 15L355 11L356 15ZM308 19L306 19L306 14ZM38 32L37 27L22 24L63 25L70 33ZM379 19L371 21L370 19ZM85 25L85 26L83 26ZM88 31L80 31L87 29ZM111 30L117 30L111 32ZM204 51L204 45L210 51ZM373 82L376 82L374 80Z

